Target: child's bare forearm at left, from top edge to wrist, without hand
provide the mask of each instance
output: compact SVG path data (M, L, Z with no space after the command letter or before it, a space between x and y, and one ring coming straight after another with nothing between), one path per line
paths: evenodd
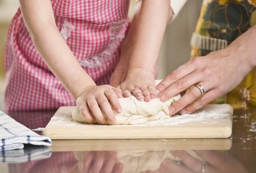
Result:
M76 99L85 87L95 85L58 31L51 1L20 0L20 8L35 47L70 94Z

